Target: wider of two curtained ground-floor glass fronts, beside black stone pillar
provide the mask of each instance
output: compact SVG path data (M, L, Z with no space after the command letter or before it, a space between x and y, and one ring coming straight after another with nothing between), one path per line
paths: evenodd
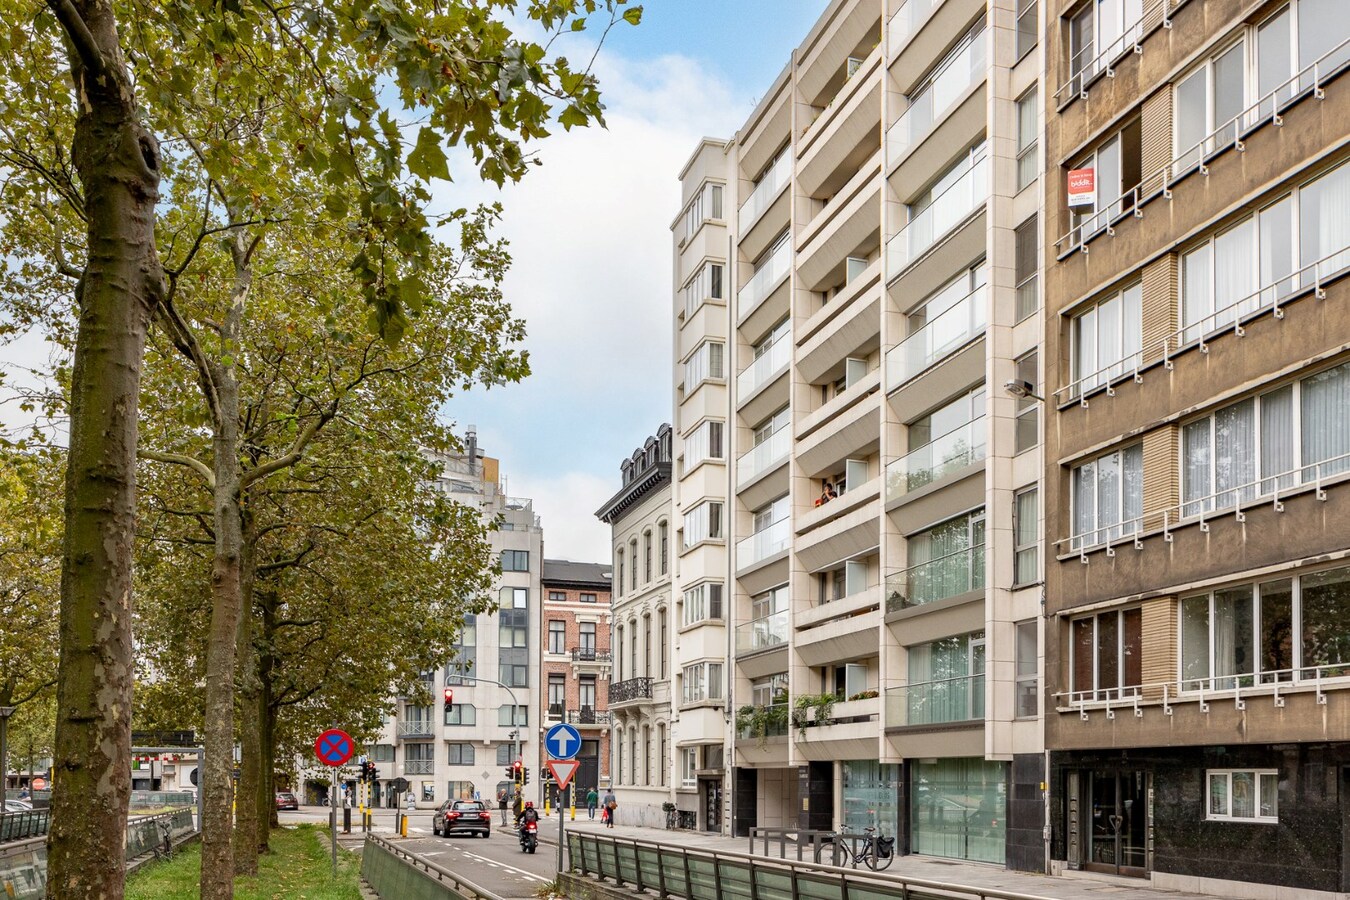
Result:
M910 772L911 851L1002 865L1006 765L979 758L918 760Z

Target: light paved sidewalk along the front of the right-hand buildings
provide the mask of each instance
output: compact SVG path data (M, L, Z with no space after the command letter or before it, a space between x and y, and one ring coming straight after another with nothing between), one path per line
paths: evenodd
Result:
M558 816L552 815L548 819L543 819L539 831L541 841L556 843ZM578 816L575 822L568 820L567 831L637 841L657 841L690 850L717 850L720 853L741 854L749 851L748 838L729 838L703 831L663 831L660 828L641 828L624 824L605 828L599 824L598 818L593 822L585 814ZM771 855L771 858L778 857ZM1146 882L1135 878L1092 877L1080 873L1052 877L1025 872L1008 872L992 865L938 860L936 857L899 857L891 864L890 869L880 874L945 881L952 885L969 888L1015 891L1038 895L1049 900L1106 900L1107 897L1111 900L1214 900L1214 895L1162 891L1150 888Z

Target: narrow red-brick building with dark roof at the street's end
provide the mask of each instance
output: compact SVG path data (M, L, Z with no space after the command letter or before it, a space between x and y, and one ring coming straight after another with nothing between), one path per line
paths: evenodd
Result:
M603 788L609 769L610 584L609 564L544 560L540 573L543 619L539 719L547 727L570 722L582 735L575 800ZM548 772L540 772L548 781ZM556 795L555 795L556 796Z

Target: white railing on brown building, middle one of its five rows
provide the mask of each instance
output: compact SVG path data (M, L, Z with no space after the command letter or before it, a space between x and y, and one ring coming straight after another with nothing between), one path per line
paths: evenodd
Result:
M1253 316L1270 312L1276 318L1284 318L1281 305L1293 302L1310 290L1316 297L1324 298L1326 286L1347 271L1350 271L1350 246L1341 247L1287 275L1280 275L1246 297L1227 302L1204 318L1183 325L1160 341L1126 354L1122 359L1095 371L1085 372L1056 390L1054 402L1066 403L1077 399L1087 406L1088 395L1098 390L1104 391L1107 397L1115 397L1112 383L1123 378L1142 382L1143 375L1139 374L1139 370L1150 360L1161 363L1165 368L1172 368L1172 358L1192 344L1203 354L1208 352L1208 341L1220 333L1231 331L1239 337L1243 336L1246 333L1243 322Z

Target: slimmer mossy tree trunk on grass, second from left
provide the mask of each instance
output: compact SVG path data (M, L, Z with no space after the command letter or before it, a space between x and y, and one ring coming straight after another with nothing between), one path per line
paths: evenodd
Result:
M243 609L243 499L239 480L239 379L236 359L243 308L251 286L244 235L231 235L235 285L221 325L221 362L212 372L217 412L212 452L216 491L216 552L211 572L211 626L207 634L205 787L201 814L201 900L234 897L235 641Z

